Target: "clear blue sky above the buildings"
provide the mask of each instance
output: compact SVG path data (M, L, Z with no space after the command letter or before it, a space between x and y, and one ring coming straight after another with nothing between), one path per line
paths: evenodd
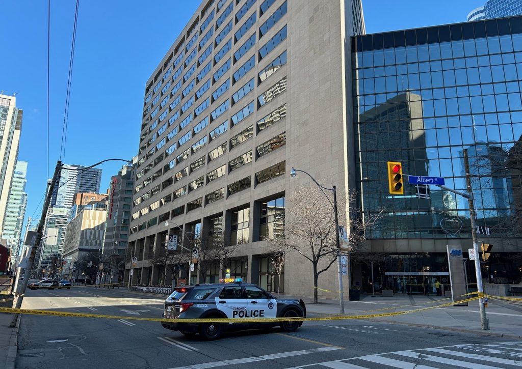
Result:
M306 1L306 0L289 0ZM366 32L465 21L485 0L363 0ZM0 89L24 110L19 160L29 162L26 218L60 157L75 1L51 1L50 160L47 159L47 1L2 0ZM196 0L81 0L65 163L137 153L145 82L199 5ZM124 163L106 163L101 191Z

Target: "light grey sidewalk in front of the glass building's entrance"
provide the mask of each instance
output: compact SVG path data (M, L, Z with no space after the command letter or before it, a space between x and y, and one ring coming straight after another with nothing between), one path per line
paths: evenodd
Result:
M295 296L284 297L296 298ZM313 304L312 298L304 298L303 301L306 303L306 312L309 316L340 315L338 300L318 299L317 304ZM345 301L344 305L345 315L371 315L422 309L450 302L452 302L451 298L442 296L396 294L393 297L383 297L376 294L375 297L371 297L371 294L361 294L360 301ZM489 319L490 329L482 330L479 302L473 300L468 302L468 306L435 307L420 312L367 318L367 320L522 339L522 299L520 302L510 302L490 298L486 316Z

